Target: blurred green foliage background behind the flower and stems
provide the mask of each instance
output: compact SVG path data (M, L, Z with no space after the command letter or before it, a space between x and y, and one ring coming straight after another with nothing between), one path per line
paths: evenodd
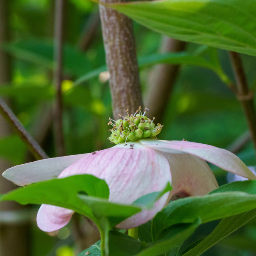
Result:
M54 102L53 3L54 1L50 0L10 1L11 41L1 46L12 58L12 81L10 84L1 84L0 96L11 99L12 109L34 136L36 134L33 134L33 131L43 125L38 116L39 109ZM111 146L107 140L108 117L112 116L111 94L108 83L100 81L97 75L99 73L97 69L105 66L100 27L96 30L90 47L85 52L79 49L79 42L85 36L84 28L90 17L98 12L97 6L85 0L67 0L66 4L63 70L65 80L62 87L64 136L67 154L80 154ZM137 23L134 23L134 32L137 55L142 62L144 61L144 67L140 69L140 78L145 94L149 73L153 68L152 59L145 57L155 56L153 62L161 57L158 53L161 35ZM177 63L182 65L172 97L166 106L162 123L163 131L158 138L162 140L185 138L189 141L226 148L247 131L247 122L241 105L227 84L224 84L220 73L206 67L208 64L198 66L198 59L204 59L202 62L208 63L211 62L212 56L211 48L200 49L201 46L188 44L184 54L192 58L183 63L177 60ZM221 74L225 73L233 81L227 52L217 50L216 54L220 61L217 70L222 67L224 71L222 70ZM255 58L248 55L242 55L242 58L248 82L253 88L256 85ZM76 86L73 84L90 72L96 75L89 76ZM150 111L148 116L151 117ZM35 127L37 129L34 129ZM52 128L49 127L43 147L51 157L54 157L52 137ZM247 165L255 164L255 153L251 143L244 145L239 156ZM15 135L2 137L0 157L11 161L12 164L23 163L26 160L26 148ZM225 182L223 173L217 173L221 183ZM210 224L204 227L207 233L213 229ZM255 255L255 227L256 222L251 221L250 226L224 239L203 255ZM201 234L196 236L200 238ZM73 255L70 247L63 247L62 240L49 237L35 227L31 238L33 256ZM64 244L73 246L73 239L63 241Z

